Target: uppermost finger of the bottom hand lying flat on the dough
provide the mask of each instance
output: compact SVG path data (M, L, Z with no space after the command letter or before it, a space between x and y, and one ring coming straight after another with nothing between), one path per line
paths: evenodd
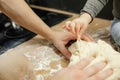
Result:
M76 63L71 67L76 69L84 69L93 59L93 57L82 59L80 62Z

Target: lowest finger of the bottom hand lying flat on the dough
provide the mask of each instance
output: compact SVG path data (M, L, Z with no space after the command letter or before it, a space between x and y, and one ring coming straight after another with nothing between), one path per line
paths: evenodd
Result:
M105 70L102 73L96 74L87 80L105 80L108 78L110 75L112 75L113 71L111 69Z

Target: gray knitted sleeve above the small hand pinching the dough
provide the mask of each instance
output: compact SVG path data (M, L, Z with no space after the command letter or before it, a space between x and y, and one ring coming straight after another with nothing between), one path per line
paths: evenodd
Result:
M87 0L82 11L89 13L93 18L102 10L109 0Z

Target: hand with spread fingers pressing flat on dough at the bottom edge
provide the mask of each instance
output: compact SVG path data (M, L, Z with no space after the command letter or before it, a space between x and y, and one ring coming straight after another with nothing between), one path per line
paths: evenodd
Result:
M111 69L98 73L106 66L104 62L85 68L91 60L91 58L83 59L77 64L62 69L52 77L52 80L105 80L112 74Z

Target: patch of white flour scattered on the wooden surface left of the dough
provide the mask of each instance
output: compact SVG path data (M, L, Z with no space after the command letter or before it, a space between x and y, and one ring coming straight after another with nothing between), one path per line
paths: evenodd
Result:
M63 57L56 54L55 50L49 46L39 46L35 51L27 52L24 55L34 66L36 80L47 80L47 77L51 77L62 69L60 60Z

